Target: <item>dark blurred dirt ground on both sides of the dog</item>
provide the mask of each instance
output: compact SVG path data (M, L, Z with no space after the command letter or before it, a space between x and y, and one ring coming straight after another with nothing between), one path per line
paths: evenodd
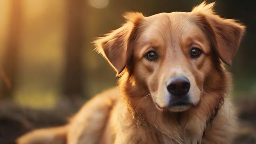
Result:
M234 144L256 144L256 97L238 98L240 130ZM15 139L36 128L60 126L68 121L76 109L62 102L55 110L31 110L12 102L0 102L0 144L15 144Z

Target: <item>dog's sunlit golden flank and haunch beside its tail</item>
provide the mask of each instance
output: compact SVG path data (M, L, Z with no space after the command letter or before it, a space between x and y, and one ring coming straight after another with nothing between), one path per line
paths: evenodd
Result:
M93 144L97 142L120 95L120 90L115 87L97 94L84 104L70 120L68 143L73 144L79 141Z

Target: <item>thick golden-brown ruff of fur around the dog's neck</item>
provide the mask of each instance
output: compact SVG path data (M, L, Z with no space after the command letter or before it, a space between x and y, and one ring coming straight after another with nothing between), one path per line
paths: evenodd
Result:
M157 110L147 86L137 82L129 72L124 72L119 81L122 101L126 104L136 125L153 127L163 136L182 143L183 129L190 119L198 117L207 128L210 128L209 125L223 105L224 97L230 91L231 76L223 66L220 66L218 71L215 73L218 76L211 75L206 80L200 103L185 112ZM204 99L208 100L204 101Z

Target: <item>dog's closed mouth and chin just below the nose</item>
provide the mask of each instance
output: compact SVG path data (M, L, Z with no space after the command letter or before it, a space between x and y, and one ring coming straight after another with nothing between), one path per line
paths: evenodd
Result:
M172 111L172 112L182 112L188 110L192 106L191 102L188 100L172 100L170 104L166 107L161 107L155 103L156 108L160 111Z

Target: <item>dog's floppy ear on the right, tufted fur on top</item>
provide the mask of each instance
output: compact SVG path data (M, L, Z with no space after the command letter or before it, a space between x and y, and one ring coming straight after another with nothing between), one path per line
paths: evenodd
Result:
M215 2L210 4L203 2L196 6L192 13L198 16L197 24L202 26L206 32L220 59L230 66L238 50L245 26L236 20L224 19L216 15L212 10L214 4Z

